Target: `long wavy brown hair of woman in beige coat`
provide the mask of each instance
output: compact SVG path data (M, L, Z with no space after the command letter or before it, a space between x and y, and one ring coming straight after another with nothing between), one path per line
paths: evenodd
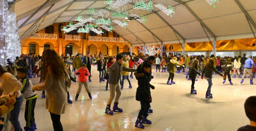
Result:
M58 80L61 80L64 74L67 75L64 62L62 62L61 57L59 57L53 49L46 49L43 51L42 63L41 75L43 80L48 78L49 70Z

